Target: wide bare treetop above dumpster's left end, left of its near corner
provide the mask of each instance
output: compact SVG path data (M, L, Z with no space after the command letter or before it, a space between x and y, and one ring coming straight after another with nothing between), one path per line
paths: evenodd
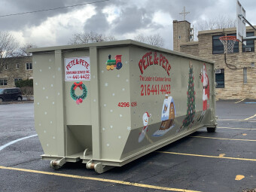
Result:
M98 32L81 32L75 33L72 38L69 39L69 44L88 44L88 43L96 43L102 41L114 41L114 38L111 35L104 35Z

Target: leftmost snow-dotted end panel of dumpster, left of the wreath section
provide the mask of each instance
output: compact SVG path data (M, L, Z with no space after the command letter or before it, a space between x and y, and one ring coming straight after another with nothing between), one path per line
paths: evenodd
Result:
M58 154L54 53L33 54L35 130L45 154Z

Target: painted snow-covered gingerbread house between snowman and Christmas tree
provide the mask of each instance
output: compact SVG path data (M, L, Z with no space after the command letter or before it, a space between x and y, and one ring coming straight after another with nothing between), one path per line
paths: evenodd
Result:
M172 128L175 126L174 119L175 119L175 104L172 96L166 95L163 101L162 116L161 116L162 123L160 125L159 130L157 130L157 132L155 132L153 136L154 137L163 136L167 132L169 132L169 130L172 130Z

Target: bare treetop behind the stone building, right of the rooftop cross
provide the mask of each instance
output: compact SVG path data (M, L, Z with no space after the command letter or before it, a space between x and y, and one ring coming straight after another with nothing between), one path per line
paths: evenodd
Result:
M227 16L219 15L215 19L201 20L194 24L194 36L197 37L199 31L224 29L236 27L236 20Z

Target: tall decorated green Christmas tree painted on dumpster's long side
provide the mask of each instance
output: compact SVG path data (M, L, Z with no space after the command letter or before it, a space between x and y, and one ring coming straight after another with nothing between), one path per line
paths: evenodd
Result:
M194 116L196 114L196 102L195 102L196 92L194 90L194 75L193 75L193 65L190 62L189 65L189 78L188 78L188 86L187 86L187 115L183 120L183 124L181 126L189 126L190 123L194 121Z

